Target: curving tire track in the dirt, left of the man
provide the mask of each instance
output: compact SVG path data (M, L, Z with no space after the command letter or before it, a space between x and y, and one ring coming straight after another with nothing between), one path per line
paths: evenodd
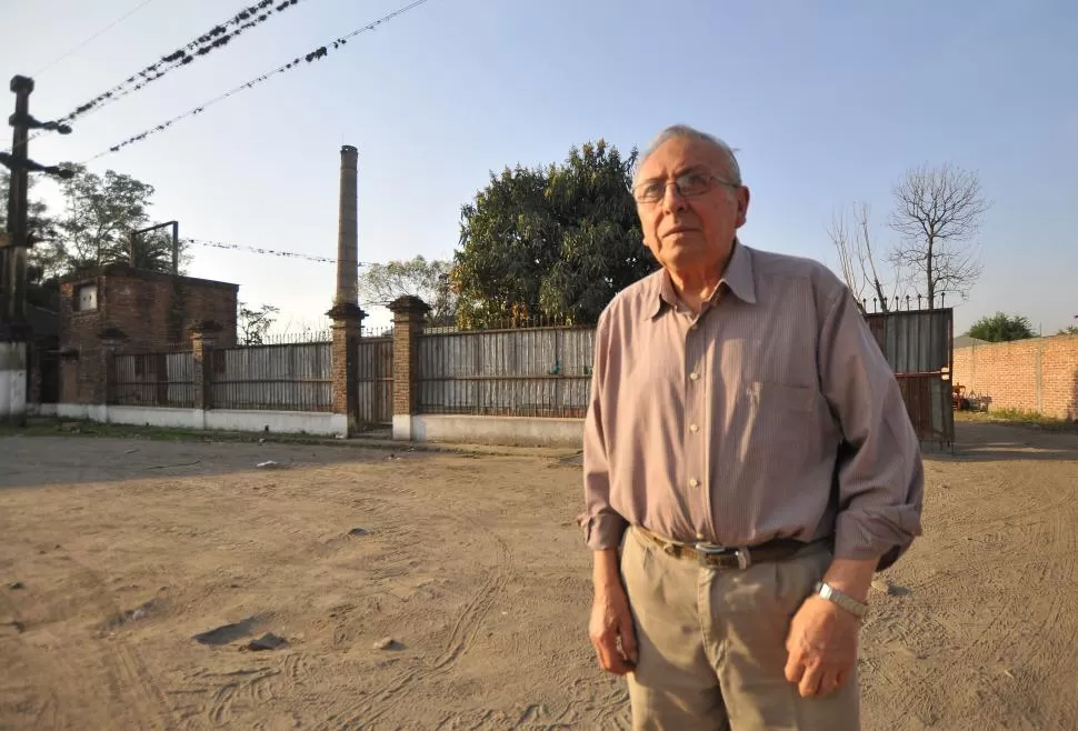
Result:
M317 729L367 728L368 724L378 721L390 710L398 707L407 698L417 678L428 679L450 672L471 647L498 594L505 590L513 577L513 555L509 543L493 531L471 518L463 515L458 518L462 522L471 524L476 529L476 534L482 535L483 542L492 549L482 550L481 553L486 555L495 553L498 555L498 561L486 573L479 588L458 614L442 651L429 664L425 663L399 671L381 689L368 694L350 708L335 713L318 724Z

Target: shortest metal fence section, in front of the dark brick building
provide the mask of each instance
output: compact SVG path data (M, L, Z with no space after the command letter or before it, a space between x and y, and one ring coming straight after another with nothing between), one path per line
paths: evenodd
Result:
M109 403L127 407L194 405L194 359L190 351L116 356Z

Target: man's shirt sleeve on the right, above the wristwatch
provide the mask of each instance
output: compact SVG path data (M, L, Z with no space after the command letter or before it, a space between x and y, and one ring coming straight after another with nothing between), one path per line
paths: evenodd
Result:
M925 470L895 374L845 288L825 308L819 361L844 435L835 557L881 557L886 569L920 535Z

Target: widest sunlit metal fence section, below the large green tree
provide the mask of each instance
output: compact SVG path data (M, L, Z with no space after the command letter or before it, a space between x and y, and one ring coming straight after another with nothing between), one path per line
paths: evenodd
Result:
M419 336L420 413L583 417L592 328L558 327Z

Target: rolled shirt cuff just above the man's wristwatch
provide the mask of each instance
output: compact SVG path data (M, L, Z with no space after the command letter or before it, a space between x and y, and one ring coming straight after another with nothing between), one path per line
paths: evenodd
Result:
M912 505L846 510L835 524L835 558L879 558L876 570L882 571L906 553L920 532L920 517Z

